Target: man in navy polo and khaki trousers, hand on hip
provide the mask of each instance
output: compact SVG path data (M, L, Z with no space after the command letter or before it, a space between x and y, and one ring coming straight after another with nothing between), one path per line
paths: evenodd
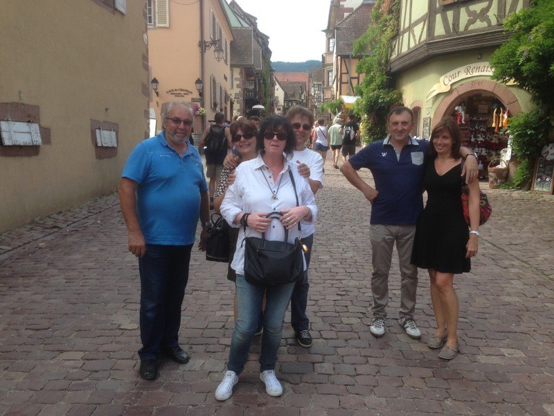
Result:
M373 320L369 330L377 337L385 333L388 272L395 242L401 276L398 322L411 338L421 336L413 320L418 268L410 263L410 258L415 223L423 210L422 184L429 141L412 139L410 132L413 125L411 110L408 107L395 107L388 114L388 137L369 144L341 166L341 172L348 182L364 193L372 205L370 241ZM461 155L467 157L474 153L462 148ZM360 168L370 169L375 189L359 177L357 171ZM467 180L471 182L479 173L476 157L470 157L464 168Z

